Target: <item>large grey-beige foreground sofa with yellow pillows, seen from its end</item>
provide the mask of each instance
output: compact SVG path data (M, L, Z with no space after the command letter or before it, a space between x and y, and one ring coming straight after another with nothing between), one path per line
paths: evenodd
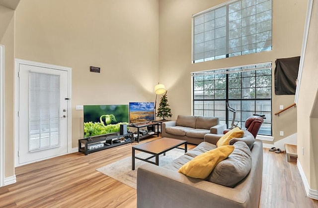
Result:
M257 208L262 184L263 146L247 131L242 138L231 140L234 152L218 163L207 179L191 178L177 172L194 156L215 149L220 136L207 134L205 142L163 167L149 163L140 166L137 170L137 208ZM236 169L231 169L229 164ZM246 176L241 174L244 171Z

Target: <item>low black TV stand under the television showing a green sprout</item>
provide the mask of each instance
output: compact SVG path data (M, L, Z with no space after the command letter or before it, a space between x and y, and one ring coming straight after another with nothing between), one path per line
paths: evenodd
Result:
M87 137L79 140L79 153L87 156L89 153L124 145L132 142L132 133L120 135L119 133Z

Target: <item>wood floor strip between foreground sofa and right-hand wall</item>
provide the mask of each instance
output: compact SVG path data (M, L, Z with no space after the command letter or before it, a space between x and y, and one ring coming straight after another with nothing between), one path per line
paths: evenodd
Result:
M265 148L263 156L260 208L318 208L318 201L306 195L296 162Z

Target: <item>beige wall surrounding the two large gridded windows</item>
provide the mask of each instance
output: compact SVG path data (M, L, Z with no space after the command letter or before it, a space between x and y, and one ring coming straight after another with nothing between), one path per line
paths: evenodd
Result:
M226 0L160 0L159 3L159 72L160 81L168 89L168 101L173 118L178 114L191 114L190 72L246 65L273 63L277 58L299 56L301 53L307 0L273 1L273 50L225 59L191 63L191 15L211 8ZM274 85L273 85L274 86ZM279 105L294 103L294 96L276 96L273 87L273 112ZM182 101L182 102L180 102ZM279 117L273 115L274 141L296 133L296 109L285 111ZM284 137L279 136L284 131Z

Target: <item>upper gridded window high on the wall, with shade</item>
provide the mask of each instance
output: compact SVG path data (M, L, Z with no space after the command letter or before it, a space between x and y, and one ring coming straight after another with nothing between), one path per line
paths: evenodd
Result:
M193 63L272 50L272 0L232 0L192 22Z

